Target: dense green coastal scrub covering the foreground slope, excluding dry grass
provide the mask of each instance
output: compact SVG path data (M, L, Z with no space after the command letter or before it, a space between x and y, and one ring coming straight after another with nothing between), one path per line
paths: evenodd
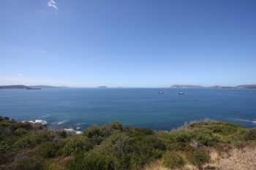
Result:
M0 169L135 170L159 160L168 169L203 169L212 150L226 154L255 140L256 128L220 121L189 123L170 132L115 122L70 134L0 117Z

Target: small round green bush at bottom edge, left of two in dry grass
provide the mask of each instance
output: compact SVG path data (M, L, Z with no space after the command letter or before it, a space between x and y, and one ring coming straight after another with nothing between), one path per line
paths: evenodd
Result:
M166 152L162 159L164 166L170 169L182 168L185 165L184 159L178 152Z

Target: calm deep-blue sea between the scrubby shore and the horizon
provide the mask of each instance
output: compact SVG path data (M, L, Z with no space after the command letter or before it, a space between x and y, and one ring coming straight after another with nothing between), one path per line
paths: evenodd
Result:
M159 94L163 90L164 94ZM183 91L185 95L178 95ZM214 88L45 88L0 90L0 115L59 128L123 125L170 130L191 120L256 126L256 90Z

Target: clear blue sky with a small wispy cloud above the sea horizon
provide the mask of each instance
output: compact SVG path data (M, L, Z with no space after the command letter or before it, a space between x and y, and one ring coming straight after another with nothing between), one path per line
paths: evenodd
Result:
M255 0L1 0L0 85L244 85L255 73Z

